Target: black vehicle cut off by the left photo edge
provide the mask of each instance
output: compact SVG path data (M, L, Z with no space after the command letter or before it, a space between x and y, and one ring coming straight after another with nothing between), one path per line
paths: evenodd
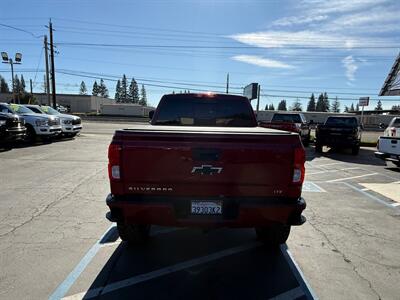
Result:
M0 107L0 147L8 147L11 142L22 140L25 132L24 118Z

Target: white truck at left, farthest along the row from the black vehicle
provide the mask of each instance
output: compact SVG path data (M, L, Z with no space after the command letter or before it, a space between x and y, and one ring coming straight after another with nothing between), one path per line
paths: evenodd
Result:
M76 136L82 129L81 118L77 116L62 114L58 110L47 105L25 105L25 107L38 114L47 114L59 117L61 122L61 131L65 136Z

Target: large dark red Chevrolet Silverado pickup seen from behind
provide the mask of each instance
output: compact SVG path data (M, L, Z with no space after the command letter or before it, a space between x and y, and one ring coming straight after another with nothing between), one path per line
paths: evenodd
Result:
M108 158L106 217L130 243L155 224L255 227L278 245L305 222L299 135L258 127L241 96L165 95L150 124L115 132Z

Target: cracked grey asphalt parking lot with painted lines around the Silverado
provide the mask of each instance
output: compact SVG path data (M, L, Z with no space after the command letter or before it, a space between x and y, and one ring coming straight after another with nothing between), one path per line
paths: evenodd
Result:
M117 128L0 152L1 299L399 299L400 169L307 149L307 222L271 250L251 229L154 227L129 247L104 217Z

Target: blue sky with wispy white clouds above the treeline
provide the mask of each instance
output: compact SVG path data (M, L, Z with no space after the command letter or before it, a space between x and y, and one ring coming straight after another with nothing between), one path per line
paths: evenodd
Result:
M156 105L173 90L224 92L229 72L230 92L261 84L261 108L296 97L305 108L311 92L326 91L343 109L360 96L378 99L400 50L399 11L396 0L9 1L0 50L21 52L16 73L43 91L42 36L52 18L57 92L78 93L82 80L90 92L104 78L113 97L126 74ZM0 75L11 81L9 65Z

